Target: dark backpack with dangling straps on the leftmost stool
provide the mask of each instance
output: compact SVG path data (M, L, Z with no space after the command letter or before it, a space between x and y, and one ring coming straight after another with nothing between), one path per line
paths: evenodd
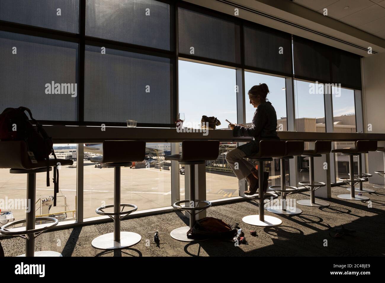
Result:
M31 121L25 111L28 112ZM25 141L28 151L32 151L38 160L47 160L47 187L49 187L49 155L56 156L53 148L52 139L47 135L43 126L32 117L31 111L27 107L6 108L0 114L0 141ZM59 170L54 168L54 206L56 206L56 193L59 193Z

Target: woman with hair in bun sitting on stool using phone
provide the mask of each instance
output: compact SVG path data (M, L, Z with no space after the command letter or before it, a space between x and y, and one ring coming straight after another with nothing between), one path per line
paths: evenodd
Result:
M277 135L277 114L273 105L266 101L269 88L266 84L254 85L248 92L250 104L256 108L251 126L230 124L234 137L252 137L247 144L237 147L226 155L228 162L238 180L246 178L249 183L245 194L255 194L258 189L258 171L243 157L253 156L259 151L259 141L279 140ZM259 168L258 168L259 169Z

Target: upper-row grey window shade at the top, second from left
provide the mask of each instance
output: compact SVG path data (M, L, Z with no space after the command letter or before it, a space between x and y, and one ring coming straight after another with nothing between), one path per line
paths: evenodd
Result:
M149 15L146 15L146 9ZM87 0L85 33L170 50L170 5L153 0Z

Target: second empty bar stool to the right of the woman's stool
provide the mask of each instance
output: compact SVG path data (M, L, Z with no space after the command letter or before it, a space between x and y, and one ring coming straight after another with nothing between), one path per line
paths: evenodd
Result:
M330 153L331 151L331 141L316 141L314 149L308 149L303 151L301 156L309 157L309 181L298 182L299 185L305 187L310 191L310 199L300 199L297 201L298 204L305 206L315 206L315 207L325 207L330 206L326 201L321 201L320 199L315 199L314 192L326 186L323 182L314 181L314 157L321 157L322 154Z

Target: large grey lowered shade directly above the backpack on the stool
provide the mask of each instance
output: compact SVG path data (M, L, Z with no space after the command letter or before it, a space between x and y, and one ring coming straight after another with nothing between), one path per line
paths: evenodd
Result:
M77 49L72 42L0 31L0 112L25 106L38 120L76 121L78 98L46 94L45 85L76 83Z

